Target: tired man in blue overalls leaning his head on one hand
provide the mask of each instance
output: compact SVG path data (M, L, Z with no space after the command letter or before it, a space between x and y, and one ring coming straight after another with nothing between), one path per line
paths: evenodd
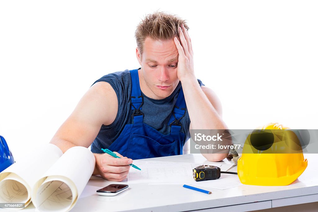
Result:
M141 68L96 81L51 143L63 152L92 144L93 174L121 181L132 159L182 154L189 129L227 129L217 96L195 77L188 29L176 16L148 15L135 32ZM101 148L127 157L113 158ZM210 161L227 156L203 155Z

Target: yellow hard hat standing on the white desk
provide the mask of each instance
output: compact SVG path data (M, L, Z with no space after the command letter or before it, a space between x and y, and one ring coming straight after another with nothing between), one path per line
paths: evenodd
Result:
M270 123L261 127L256 133L253 131L248 135L242 157L238 160L238 176L241 183L256 186L286 186L304 172L308 165L307 159L304 159L296 134L286 129L289 128L278 123ZM259 136L260 134L262 135Z

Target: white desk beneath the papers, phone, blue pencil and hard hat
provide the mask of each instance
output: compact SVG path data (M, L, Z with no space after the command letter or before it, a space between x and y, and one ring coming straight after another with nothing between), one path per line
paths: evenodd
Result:
M116 196L94 194L81 198L71 211L252 211L309 202L318 202L318 154L305 154L308 167L288 186L241 185L225 190L211 189L204 194L183 188L182 185L131 184L127 191ZM316 159L315 159L316 157ZM208 163L201 154L186 154L156 159L170 162ZM210 162L211 163L211 162ZM232 163L228 159L219 162ZM231 171L235 171L236 167ZM221 175L222 177L222 175ZM91 177L87 185L104 187L114 182ZM122 183L125 184L125 183ZM210 209L208 209L210 208ZM23 211L35 211L30 204ZM318 211L318 208L317 208Z

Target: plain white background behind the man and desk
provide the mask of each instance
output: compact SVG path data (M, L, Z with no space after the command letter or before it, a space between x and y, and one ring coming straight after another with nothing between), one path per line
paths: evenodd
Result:
M197 78L230 129L318 129L317 1L1 1L0 135L16 161L94 81L140 67L135 27L156 10L188 20Z

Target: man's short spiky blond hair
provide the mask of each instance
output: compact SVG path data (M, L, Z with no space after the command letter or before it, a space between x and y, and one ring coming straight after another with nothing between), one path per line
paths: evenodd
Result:
M179 26L184 25L189 29L186 21L176 15L165 12L154 12L148 14L137 26L135 38L137 48L142 55L143 44L147 37L154 40L169 40L179 35Z

